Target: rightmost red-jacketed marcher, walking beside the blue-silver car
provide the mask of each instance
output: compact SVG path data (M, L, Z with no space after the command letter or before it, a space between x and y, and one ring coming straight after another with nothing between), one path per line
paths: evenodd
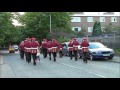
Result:
M89 46L89 43L87 42L87 39L83 38L82 43L81 43L81 47L82 47L82 52L83 52L83 56L84 56L83 61L86 63L87 63L86 55L88 52L88 46Z

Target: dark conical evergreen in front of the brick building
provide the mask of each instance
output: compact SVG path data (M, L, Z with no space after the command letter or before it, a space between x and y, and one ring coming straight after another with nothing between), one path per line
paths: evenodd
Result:
M93 26L93 33L92 35L101 35L102 34L102 30L101 30L101 24L100 22L95 22L94 26Z

